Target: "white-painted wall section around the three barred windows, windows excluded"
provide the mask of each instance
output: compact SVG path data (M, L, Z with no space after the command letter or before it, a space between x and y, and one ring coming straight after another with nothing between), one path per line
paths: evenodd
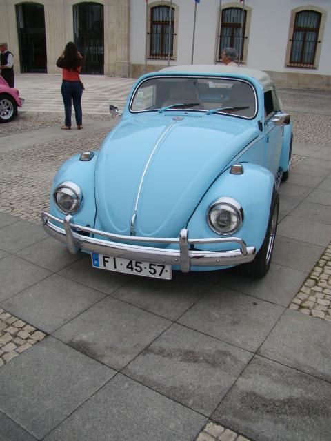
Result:
M149 0L148 4L159 3ZM194 22L194 1L174 0L179 10L179 32L177 34L177 57L170 65L190 64L192 56L192 35ZM217 53L217 19L219 0L201 0L197 6L197 21L194 44L194 64L215 63ZM240 7L239 0L221 0L221 8ZM245 65L249 68L266 70L281 85L330 89L331 56L331 0L245 0L248 11L246 24ZM317 9L323 12L318 44L316 69L292 68L287 66L292 37L290 28L293 10ZM145 68L146 8L137 0L131 0L131 72L139 76ZM168 65L167 60L147 60L147 68L157 69Z

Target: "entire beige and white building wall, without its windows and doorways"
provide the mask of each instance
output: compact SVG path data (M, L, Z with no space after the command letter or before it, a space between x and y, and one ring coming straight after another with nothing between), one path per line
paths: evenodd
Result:
M19 41L15 5L26 0L0 0L0 40L8 41L19 66ZM68 41L73 40L72 6L79 0L39 0L45 10L47 71L58 73L55 62ZM104 72L110 76L139 76L159 70L167 60L145 60L146 1L97 0L104 8ZM148 0L148 5L169 4L166 0ZM194 21L194 0L174 0L176 8L175 59L171 65L190 64ZM218 45L220 0L201 0L197 5L194 64L215 63ZM239 0L221 0L221 7L240 7ZM331 0L245 0L248 11L244 61L250 68L267 70L279 83L330 88ZM288 67L288 43L292 34L294 10L317 8L323 12L315 69ZM149 30L149 29L148 29Z

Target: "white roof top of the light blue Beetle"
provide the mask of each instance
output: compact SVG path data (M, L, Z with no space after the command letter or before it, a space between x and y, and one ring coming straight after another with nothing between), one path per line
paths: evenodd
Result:
M240 74L252 76L261 83L264 87L268 84L273 84L272 79L268 74L263 72L263 70L248 69L248 68L237 68L235 66L225 66L225 65L215 65L215 64L190 64L190 65L179 65L170 66L169 68L161 69L159 72L188 72L188 73L210 73L210 74Z

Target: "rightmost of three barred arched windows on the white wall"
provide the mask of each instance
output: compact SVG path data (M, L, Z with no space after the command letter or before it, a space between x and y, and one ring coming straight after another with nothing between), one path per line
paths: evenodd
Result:
M290 63L296 68L313 68L317 49L321 14L303 10L295 14L293 36L290 41Z

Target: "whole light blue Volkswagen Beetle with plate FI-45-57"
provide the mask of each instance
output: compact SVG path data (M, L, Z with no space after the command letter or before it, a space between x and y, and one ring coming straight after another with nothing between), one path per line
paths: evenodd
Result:
M101 149L61 166L43 227L100 269L170 279L241 265L259 278L291 148L290 115L265 72L190 65L146 74Z

